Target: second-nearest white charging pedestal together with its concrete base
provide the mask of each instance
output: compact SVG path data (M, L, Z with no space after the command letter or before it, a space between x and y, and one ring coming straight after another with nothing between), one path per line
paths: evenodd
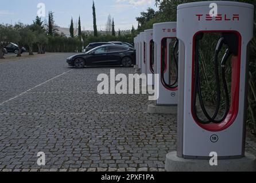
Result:
M176 22L155 23L153 25L154 41L154 74L159 75L158 99L154 105L148 106L148 113L177 114L178 87L170 88L170 63L173 61L170 54L171 42L176 41ZM166 48L163 49L163 44ZM164 62L164 63L163 63ZM165 69L162 68L165 65Z

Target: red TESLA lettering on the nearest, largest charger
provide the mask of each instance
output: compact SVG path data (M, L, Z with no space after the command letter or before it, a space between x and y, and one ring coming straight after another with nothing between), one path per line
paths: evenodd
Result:
M227 15L227 14L218 14L215 17L212 17L210 14L197 14L196 17L198 21L239 21L239 14Z

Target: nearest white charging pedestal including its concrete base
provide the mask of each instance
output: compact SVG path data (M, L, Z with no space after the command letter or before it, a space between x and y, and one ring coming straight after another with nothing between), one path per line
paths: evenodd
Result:
M208 15L211 10L210 3L218 5L216 17ZM177 9L180 91L177 152L166 156L165 169L255 172L255 157L245 153L247 47L253 38L254 6L240 2L205 1L179 5ZM195 65L199 61L197 57L200 57L199 51L197 52L200 50L198 40L207 37L208 34L211 36L212 33L215 37L218 35L220 40L224 38L226 43L231 41L231 47L237 47L235 46L236 54L233 54L231 59L230 110L223 121L214 123L210 120L205 123L198 119L197 110L193 107L196 101L193 91L197 89ZM233 37L225 38L230 35ZM223 46L223 49L226 48ZM210 165L211 154L217 155L217 166Z

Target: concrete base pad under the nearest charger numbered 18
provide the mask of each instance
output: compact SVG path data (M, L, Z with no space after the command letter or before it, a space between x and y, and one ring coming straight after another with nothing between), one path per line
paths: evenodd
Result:
M218 160L211 166L209 160L187 160L177 157L177 152L167 154L165 170L168 172L256 172L256 158L252 154L232 160Z

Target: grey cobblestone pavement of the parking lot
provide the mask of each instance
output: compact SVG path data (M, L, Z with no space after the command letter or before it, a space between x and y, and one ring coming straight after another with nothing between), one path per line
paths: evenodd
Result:
M69 55L0 63L0 170L164 171L176 116L146 113L146 95L99 95L98 74L113 68L72 69Z

